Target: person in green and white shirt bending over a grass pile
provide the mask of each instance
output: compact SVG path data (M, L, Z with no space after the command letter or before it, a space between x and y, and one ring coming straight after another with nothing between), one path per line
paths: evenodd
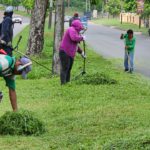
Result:
M0 54L0 77L4 78L9 89L9 98L13 111L18 109L15 75L22 75L23 78L26 78L27 73L31 71L31 65L31 60L26 57L16 60L15 57ZM2 97L2 92L0 92L0 101Z

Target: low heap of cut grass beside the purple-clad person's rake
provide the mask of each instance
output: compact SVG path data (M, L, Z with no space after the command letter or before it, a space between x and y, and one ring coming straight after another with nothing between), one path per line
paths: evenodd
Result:
M95 73L95 74L86 74L82 76L77 83L79 84L91 84L91 85L99 85L99 84L117 84L117 81L111 79L108 75L104 73Z

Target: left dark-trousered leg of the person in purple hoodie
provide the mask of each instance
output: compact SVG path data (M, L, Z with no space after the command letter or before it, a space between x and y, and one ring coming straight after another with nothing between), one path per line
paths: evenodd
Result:
M66 83L67 71L68 71L68 64L69 64L69 56L63 51L59 52L60 57L60 80L61 84Z

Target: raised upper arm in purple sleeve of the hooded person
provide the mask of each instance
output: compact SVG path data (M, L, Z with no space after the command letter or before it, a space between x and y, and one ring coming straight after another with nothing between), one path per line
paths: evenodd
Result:
M81 35L79 35L76 30L70 29L69 36L70 36L71 40L74 42L83 41L83 37Z

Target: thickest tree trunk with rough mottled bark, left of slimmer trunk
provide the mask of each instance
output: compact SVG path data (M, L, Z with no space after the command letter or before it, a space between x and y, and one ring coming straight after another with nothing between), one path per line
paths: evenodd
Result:
M27 54L40 54L44 45L44 25L48 0L35 0L30 22Z

